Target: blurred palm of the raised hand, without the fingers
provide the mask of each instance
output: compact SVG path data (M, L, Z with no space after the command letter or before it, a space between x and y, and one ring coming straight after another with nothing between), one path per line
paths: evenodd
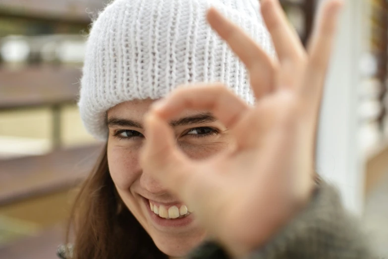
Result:
M294 99L292 93L263 98L236 123L236 148L202 163L198 170L201 173L188 177L182 197L194 210L206 212L198 215L200 220L210 232L219 233L225 243L254 244L258 233L264 239L266 232L275 231L294 212L289 207L302 204L311 190L312 181L307 180L313 173L313 157L308 154L314 142L310 138L308 145L297 146L300 142L292 141L308 134L298 131L299 122L290 119L289 114L296 113ZM296 149L300 152L294 153ZM292 155L300 157L281 159ZM294 163L300 160L305 162ZM305 186L295 188L291 182L305 182ZM217 215L217 220L210 215ZM273 225L263 225L270 218Z

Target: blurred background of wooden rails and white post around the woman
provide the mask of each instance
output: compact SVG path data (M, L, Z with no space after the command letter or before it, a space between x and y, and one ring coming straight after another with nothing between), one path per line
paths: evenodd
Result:
M323 0L281 0L304 44ZM0 258L55 259L101 143L77 111L91 18L104 0L0 0ZM346 0L317 171L388 258L388 3Z

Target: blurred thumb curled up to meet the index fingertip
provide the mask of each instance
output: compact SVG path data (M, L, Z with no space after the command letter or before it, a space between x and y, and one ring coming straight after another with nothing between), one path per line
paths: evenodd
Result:
M163 186L181 195L188 183L194 163L180 151L168 125L155 115L145 120L146 143L140 154L143 170L147 170Z

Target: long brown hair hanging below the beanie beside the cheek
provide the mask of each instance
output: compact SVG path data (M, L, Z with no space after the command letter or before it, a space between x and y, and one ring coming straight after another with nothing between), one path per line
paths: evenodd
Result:
M124 205L109 173L107 145L76 196L66 241L72 259L167 258Z

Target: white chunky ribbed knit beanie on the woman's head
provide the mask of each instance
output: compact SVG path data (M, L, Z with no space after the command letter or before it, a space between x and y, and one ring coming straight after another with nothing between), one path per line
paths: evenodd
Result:
M78 106L94 137L107 139L111 107L159 99L182 84L223 82L254 102L244 65L206 21L210 6L274 54L259 0L114 0L86 45Z

